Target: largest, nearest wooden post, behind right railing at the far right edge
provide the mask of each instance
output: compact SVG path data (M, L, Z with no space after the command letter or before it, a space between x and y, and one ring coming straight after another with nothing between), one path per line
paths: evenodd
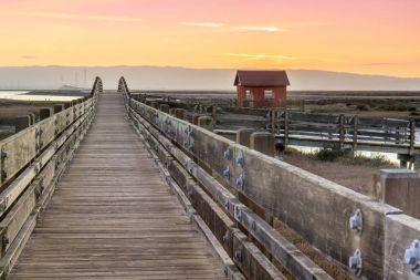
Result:
M417 172L407 169L380 170L380 194L382 203L403 210L407 215L420 218L420 177Z

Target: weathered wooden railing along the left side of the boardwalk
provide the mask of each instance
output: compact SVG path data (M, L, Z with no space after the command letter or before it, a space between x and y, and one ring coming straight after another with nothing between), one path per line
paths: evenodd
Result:
M87 131L102 81L96 77L91 96L0 142L0 269L13 267L36 218Z

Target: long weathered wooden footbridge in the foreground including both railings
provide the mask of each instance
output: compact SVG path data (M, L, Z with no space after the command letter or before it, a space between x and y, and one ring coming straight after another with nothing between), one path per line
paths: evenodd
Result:
M96 79L0 142L3 278L418 277L418 219L160 108Z

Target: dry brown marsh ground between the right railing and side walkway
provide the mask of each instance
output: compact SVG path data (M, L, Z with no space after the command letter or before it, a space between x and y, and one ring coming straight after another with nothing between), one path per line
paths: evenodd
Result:
M369 196L374 196L375 194L374 175L384 168L396 168L396 166L390 164L374 167L367 165L344 165L337 162L323 162L300 153L286 154L283 160Z

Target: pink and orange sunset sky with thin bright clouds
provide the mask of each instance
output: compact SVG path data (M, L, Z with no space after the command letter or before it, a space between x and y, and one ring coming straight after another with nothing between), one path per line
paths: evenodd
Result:
M419 0L0 0L0 65L420 76Z

